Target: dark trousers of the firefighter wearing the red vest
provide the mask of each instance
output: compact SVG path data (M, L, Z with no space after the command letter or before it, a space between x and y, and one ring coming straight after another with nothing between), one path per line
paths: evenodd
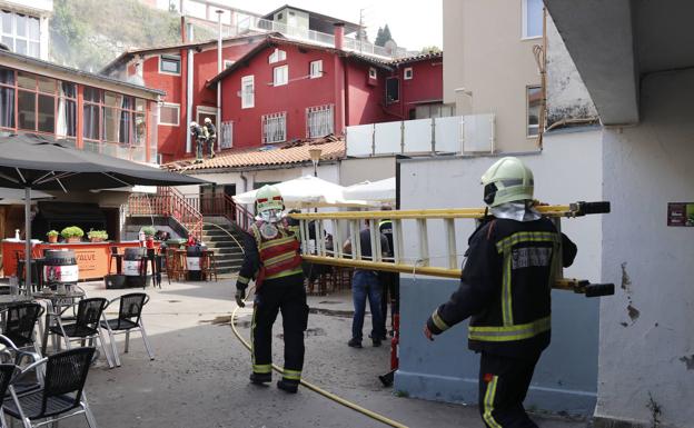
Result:
M298 382L304 366L304 331L308 322L301 273L266 280L256 293L251 322L255 374L272 371L272 325L279 311L285 339L284 378Z

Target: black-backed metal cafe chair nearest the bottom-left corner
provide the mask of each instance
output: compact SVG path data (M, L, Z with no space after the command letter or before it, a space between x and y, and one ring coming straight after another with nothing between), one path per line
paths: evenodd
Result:
M24 428L38 427L59 420L85 415L90 428L97 422L87 404L85 382L95 348L75 348L54 354L28 366L19 376L44 366L42 385L34 390L19 394L10 382L11 399L4 400L3 410L12 418L21 420Z

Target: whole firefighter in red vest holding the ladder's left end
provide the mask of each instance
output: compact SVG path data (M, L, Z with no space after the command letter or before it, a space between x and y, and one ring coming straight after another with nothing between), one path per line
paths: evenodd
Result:
M236 302L244 307L246 288L256 280L251 322L252 372L256 385L270 382L272 371L272 324L281 310L285 367L277 387L296 394L304 366L304 331L308 306L304 289L298 227L282 217L285 203L274 186L256 193L258 217L244 236L244 266L236 282Z

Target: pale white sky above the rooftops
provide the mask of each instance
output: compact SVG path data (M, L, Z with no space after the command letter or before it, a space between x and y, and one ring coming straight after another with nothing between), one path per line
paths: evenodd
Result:
M268 13L290 4L318 13L359 23L364 9L364 22L369 40L376 39L378 27L386 23L398 46L409 50L443 44L443 0L216 0L218 3Z

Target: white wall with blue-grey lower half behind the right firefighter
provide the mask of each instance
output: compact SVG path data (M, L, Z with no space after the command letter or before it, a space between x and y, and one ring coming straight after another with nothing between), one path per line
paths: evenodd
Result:
M535 173L535 196L551 203L599 200L602 192L601 133L547 136L542 155L523 159ZM400 165L401 209L482 206L479 177L492 157L405 160ZM581 180L576 179L581 171ZM567 277L598 281L601 276L599 216L563 221L563 230L578 246ZM416 230L405 223L405 252L415 257ZM443 236L443 225L428 222L429 237ZM456 222L457 252L467 247L472 220ZM432 265L444 266L445 240L429 238ZM462 258L458 258L462 261ZM444 401L477 401L478 357L467 350L467 329L457 326L436 341L422 335L432 311L446 301L457 281L403 276L400 369L395 389L410 397ZM553 293L553 344L537 366L528 408L589 415L597 391L598 300L567 291Z

